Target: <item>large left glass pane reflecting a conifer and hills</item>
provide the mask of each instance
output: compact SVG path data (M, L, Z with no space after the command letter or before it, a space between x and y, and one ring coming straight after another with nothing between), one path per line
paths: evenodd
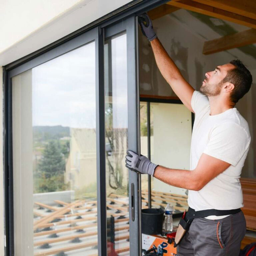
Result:
M95 43L12 78L14 243L97 255Z

